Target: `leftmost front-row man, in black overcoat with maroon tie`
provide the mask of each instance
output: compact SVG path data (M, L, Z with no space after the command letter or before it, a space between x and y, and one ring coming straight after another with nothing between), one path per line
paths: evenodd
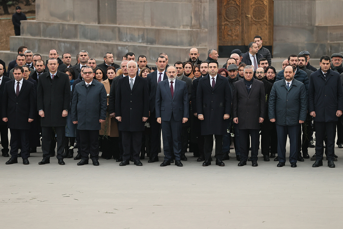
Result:
M35 116L35 92L32 82L23 79L24 69L14 67L15 80L5 83L2 98L2 121L7 122L11 132L11 158L6 164L18 163L18 149L21 149L23 164L29 164L29 129Z

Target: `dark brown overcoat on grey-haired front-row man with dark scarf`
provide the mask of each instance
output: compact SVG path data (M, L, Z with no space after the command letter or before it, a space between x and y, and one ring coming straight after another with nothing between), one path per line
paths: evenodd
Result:
M259 117L265 117L265 93L263 82L252 78L248 94L244 79L234 84L232 116L238 117L238 129L260 129Z

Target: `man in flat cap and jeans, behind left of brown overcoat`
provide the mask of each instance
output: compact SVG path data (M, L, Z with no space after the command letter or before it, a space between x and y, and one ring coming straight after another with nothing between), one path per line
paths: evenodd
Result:
M229 73L227 79L229 80L230 90L231 90L231 98L234 92L234 83L240 80L241 78L238 77L238 67L235 64L229 65L227 67L227 71ZM232 114L230 114L232 116ZM235 153L237 161L240 161L240 150L239 150L239 130L238 125L233 122L233 119L230 119L228 123L228 130L229 133L223 135L223 157L222 161L229 160L229 152L230 152L230 144L231 144L231 137L232 134L234 135L234 146L235 146Z

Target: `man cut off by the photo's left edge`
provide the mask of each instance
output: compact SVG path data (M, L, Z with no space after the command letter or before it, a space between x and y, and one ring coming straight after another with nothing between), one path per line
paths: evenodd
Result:
M5 83L10 81L11 79L8 77L3 76L4 73L4 66L0 64L0 101L2 101L2 95L5 89ZM8 127L7 123L0 121L0 138L1 138L1 152L2 157L9 157L8 151Z

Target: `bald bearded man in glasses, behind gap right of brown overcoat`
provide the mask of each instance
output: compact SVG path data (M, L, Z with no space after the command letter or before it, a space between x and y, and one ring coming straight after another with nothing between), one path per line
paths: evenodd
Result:
M263 58L264 59L264 58ZM267 59L265 60L267 62ZM268 62L267 62L268 65ZM266 67L267 68L267 67ZM272 123L268 118L268 103L270 91L272 90L273 84L268 82L264 77L264 69L262 67L257 68L256 78L262 81L264 84L264 94L265 94L265 119L264 122L260 124L261 131L261 152L264 161L270 161L269 159L269 149L271 140L271 129L273 128Z

